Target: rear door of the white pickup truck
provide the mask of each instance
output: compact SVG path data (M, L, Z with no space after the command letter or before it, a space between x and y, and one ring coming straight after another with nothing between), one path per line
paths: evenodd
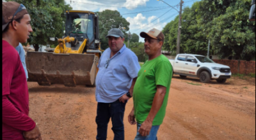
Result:
M184 73L184 65L186 63L186 55L178 55L174 62L174 72Z

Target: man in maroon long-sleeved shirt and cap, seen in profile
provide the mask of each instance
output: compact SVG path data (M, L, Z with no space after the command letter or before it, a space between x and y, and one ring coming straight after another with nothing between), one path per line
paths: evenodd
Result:
M29 118L26 74L15 47L26 43L32 28L23 4L3 2L2 27L2 135L4 140L42 140L35 122Z

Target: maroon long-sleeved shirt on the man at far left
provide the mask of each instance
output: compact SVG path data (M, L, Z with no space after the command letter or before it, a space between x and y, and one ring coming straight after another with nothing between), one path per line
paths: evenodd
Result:
M35 128L29 118L29 95L26 74L15 48L2 40L3 140L24 140L23 132Z

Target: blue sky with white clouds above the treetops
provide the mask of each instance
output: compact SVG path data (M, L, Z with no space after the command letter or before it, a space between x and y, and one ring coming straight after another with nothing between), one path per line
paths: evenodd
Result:
M164 1L179 10L177 5L180 3L180 0ZM183 1L184 7L190 7L193 3L200 0ZM71 0L71 3L70 0L65 0L65 2L70 4L73 10L117 10L130 22L130 32L138 35L140 32L148 32L152 28L162 30L166 24L179 15L176 10L157 0ZM140 38L140 41L143 41L143 39Z

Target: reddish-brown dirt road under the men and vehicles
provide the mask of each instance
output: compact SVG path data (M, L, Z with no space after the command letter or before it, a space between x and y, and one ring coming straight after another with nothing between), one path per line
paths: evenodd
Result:
M94 140L97 102L95 88L40 87L28 82L31 118L45 140ZM136 126L129 125L125 111L125 139L133 140ZM174 76L159 140L255 139L255 78L232 78L225 84L186 80ZM113 140L109 123L108 140Z

